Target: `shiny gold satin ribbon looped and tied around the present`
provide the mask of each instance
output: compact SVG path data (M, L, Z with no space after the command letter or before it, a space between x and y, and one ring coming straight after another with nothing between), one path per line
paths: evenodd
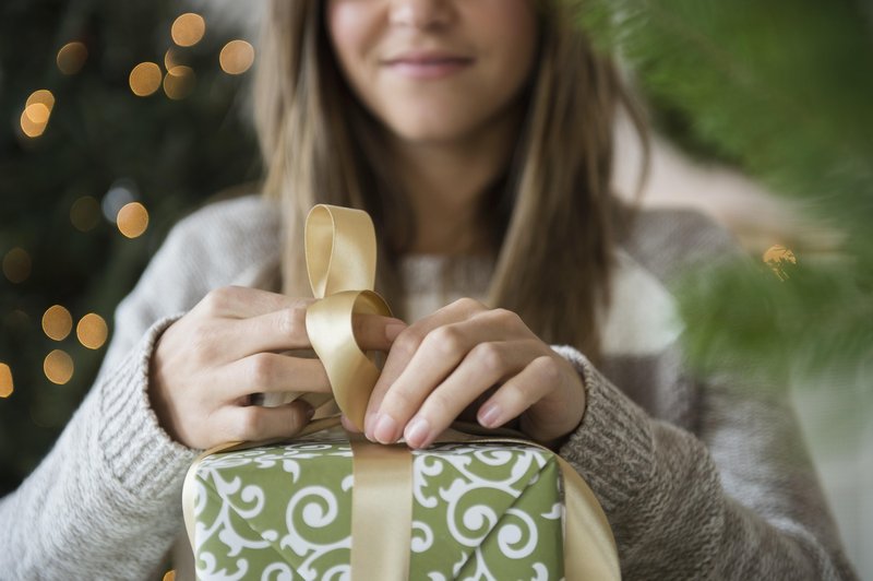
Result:
M359 429L379 369L357 344L354 315L391 316L372 288L375 280L375 234L370 216L357 210L316 205L307 217L307 270L315 298L307 310L307 332L322 360L339 410ZM316 419L298 435L335 427L338 417ZM351 507L351 577L354 580L409 578L412 522L411 453L405 444L382 446L350 435L355 489ZM278 441L278 440L274 440ZM506 437L480 437L450 430L440 442L536 443ZM199 461L220 451L262 446L231 442L207 450L186 477L186 527L194 545L194 479ZM564 481L566 526L564 576L570 581L621 579L612 531L594 493L576 471L554 455ZM373 526L379 527L374 534Z

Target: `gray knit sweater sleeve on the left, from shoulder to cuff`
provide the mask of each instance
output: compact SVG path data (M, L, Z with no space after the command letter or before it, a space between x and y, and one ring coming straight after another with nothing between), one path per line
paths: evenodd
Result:
M119 305L94 387L40 465L0 499L0 578L159 578L196 451L172 441L150 406L153 347L211 288L246 284L252 266L268 262L273 222L244 199L174 228Z

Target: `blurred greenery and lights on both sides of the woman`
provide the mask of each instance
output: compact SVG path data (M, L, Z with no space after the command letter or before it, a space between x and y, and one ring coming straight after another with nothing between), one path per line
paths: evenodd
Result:
M850 558L873 578L871 2L589 0L653 118L646 205L693 206L761 266L682 297L689 348L788 368ZM826 4L826 5L825 5ZM97 372L112 311L171 225L256 191L262 0L0 8L0 496ZM643 152L626 123L617 190ZM765 305L763 311L749 308ZM725 336L728 325L739 332ZM702 363L702 365L704 365Z

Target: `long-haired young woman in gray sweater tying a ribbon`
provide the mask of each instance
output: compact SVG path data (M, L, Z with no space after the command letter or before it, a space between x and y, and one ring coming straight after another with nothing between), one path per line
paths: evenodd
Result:
M627 579L847 579L781 390L684 370L667 281L730 240L622 210L612 129L633 107L562 0L275 0L256 112L265 197L183 221L119 307L99 378L0 501L3 579L156 573L196 450L294 436L325 392L304 349L302 221L370 212L388 353L366 435L427 447L454 418L560 450ZM407 321L407 322L404 322Z

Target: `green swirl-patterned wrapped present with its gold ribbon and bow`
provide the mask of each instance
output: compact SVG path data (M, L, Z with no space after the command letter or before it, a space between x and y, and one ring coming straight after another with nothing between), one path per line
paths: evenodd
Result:
M306 236L320 299L307 331L336 406L360 429L379 369L351 317L391 312L372 292L372 223L320 205ZM337 425L322 418L294 442L229 443L198 459L183 508L200 579L619 579L597 499L549 450L457 432L409 450L345 439Z

